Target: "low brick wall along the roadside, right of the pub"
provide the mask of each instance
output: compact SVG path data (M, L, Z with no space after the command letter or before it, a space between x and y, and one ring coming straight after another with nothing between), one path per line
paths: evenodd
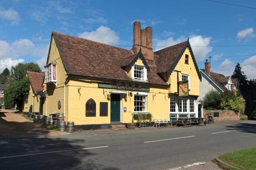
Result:
M214 113L219 113L219 117L214 117L214 122L226 122L226 121L232 121L232 120L240 120L240 113L236 113L232 110L205 110L203 111L203 114L209 114L211 113L212 116Z

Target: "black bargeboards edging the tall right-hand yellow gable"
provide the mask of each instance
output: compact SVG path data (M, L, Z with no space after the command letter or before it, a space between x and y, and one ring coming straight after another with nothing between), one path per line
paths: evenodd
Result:
M195 67L196 67L196 70L197 70L197 75L200 79L200 81L202 81L202 77L201 77L201 74L199 72L199 69L198 69L198 66L197 66L197 62L196 62L196 58L194 56L194 53L192 51L192 48L191 48L191 45L189 43L189 39L187 39L187 42L184 44L184 46L182 47L182 50L180 51L180 54L178 55L178 57L175 59L174 63L172 66L170 66L170 68L167 70L167 77L170 76L170 74L172 74L172 72L174 71L174 68L176 67L176 65L178 64L178 62L180 61L181 57L182 57L182 54L185 52L186 50L186 47L188 47L188 50L191 54L191 57L192 57L192 60L195 64Z

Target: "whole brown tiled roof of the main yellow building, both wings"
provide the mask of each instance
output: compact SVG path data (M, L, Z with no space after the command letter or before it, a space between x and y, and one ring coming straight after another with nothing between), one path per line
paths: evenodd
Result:
M127 75L123 66L131 64L141 54L134 54L131 50L57 32L52 32L52 37L67 74L134 82ZM144 65L149 68L147 69L147 82L141 83L168 85L158 73L167 72L168 67L174 65L184 46L188 43L185 41L155 52L155 61L145 60L143 56L139 56L143 63L146 62ZM48 59L49 55L50 50Z

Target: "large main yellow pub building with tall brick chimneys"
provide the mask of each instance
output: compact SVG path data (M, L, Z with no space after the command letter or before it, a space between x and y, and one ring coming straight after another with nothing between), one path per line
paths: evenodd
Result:
M189 40L157 52L152 28L134 22L133 48L125 50L53 32L45 66L42 112L63 112L75 125L198 117L201 76Z

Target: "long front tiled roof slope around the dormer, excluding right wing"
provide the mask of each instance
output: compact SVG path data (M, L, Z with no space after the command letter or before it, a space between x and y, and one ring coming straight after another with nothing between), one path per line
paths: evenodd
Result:
M132 51L56 32L52 36L67 74L133 81L122 68L124 61L127 63L134 57ZM150 70L147 72L148 82L145 83L167 85L157 75L155 63L146 62Z

